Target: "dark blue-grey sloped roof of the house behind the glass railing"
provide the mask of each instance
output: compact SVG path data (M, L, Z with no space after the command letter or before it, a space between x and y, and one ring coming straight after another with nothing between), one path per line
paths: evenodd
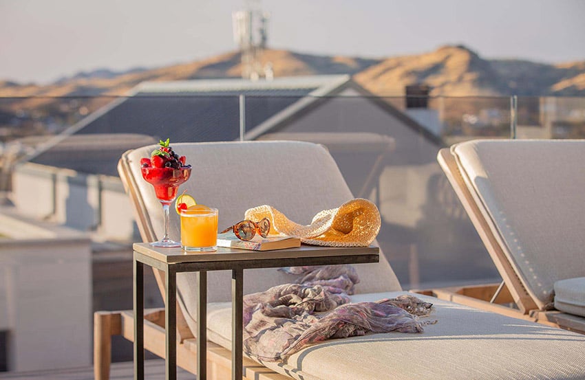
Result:
M248 98L246 129L286 109L304 95ZM230 141L240 136L240 100L232 96L133 96L93 120L77 135L141 133L171 142Z

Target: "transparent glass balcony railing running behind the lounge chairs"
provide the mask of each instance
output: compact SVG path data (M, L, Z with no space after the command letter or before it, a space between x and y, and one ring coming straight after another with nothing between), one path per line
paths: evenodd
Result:
M0 190L33 220L89 232L92 309L130 309L130 243L140 236L117 177L125 150L167 137L316 142L354 196L378 206L378 242L403 288L445 287L500 278L437 164L438 150L478 138L585 138L585 98L273 92L0 98ZM145 306L161 306L152 279L147 286ZM131 346L120 340L113 357L131 359Z

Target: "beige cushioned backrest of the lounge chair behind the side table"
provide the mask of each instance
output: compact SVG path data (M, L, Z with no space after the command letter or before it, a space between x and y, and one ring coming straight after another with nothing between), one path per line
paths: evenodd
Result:
M336 208L352 199L337 164L321 145L306 142L219 142L171 144L187 156L191 179L180 187L198 203L220 210L220 230L244 218L248 208L273 205L297 223L310 224L321 210ZM153 187L140 175L140 158L149 157L156 146L130 150L120 159L118 170L136 209L136 220L144 241L162 234L162 208ZM180 239L178 215L170 212L170 236ZM261 255L262 253L259 253ZM356 266L361 282L358 293L393 291L400 284L383 254L376 264ZM230 300L231 273L208 274L209 302ZM264 291L276 284L292 282L295 276L277 269L244 272L244 292ZM193 273L179 273L178 298L191 330L195 315Z

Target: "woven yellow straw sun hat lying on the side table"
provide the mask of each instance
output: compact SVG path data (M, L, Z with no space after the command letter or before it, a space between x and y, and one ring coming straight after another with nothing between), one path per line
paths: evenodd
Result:
M315 215L310 225L290 221L270 205L261 205L246 211L246 219L270 220L270 234L301 238L301 242L330 247L367 247L380 232L380 212L368 199L352 199L339 208L323 210Z

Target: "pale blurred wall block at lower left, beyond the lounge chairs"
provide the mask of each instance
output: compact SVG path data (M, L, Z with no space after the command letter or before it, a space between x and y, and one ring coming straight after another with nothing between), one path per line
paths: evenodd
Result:
M10 332L9 370L91 365L87 235L25 220L6 209L0 210L0 233L8 236L0 240L0 328Z

